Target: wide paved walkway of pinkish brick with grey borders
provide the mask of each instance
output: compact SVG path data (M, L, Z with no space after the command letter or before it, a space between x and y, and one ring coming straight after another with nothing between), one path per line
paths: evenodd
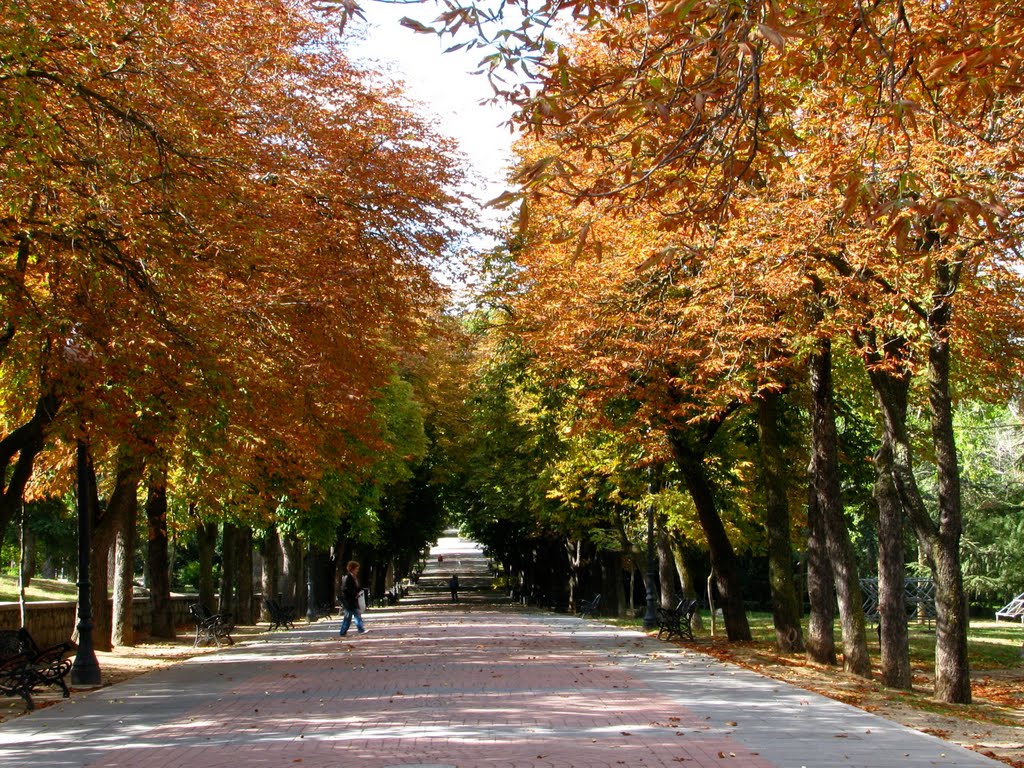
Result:
M478 595L367 625L345 640L336 621L299 626L75 693L0 725L0 765L1001 765L639 632Z

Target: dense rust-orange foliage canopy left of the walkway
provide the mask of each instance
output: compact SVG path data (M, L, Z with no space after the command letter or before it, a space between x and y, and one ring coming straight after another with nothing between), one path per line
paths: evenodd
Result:
M303 3L3 18L6 429L55 386L68 432L166 449L187 426L250 481L354 461L442 298L449 142Z

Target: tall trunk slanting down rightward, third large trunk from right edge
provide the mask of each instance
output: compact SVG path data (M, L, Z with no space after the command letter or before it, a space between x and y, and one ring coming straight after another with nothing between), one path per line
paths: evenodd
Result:
M867 653L860 582L843 514L840 494L839 437L831 379L831 342L821 339L809 359L811 380L811 483L824 525L825 547L831 561L840 625L843 630L843 667L861 677L871 676Z

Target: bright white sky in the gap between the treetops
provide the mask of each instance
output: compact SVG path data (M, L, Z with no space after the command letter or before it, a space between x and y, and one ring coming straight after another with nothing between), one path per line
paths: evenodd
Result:
M478 176L471 190L481 203L497 198L505 188L511 162L512 135L501 124L506 112L499 105L481 104L492 95L483 75L470 74L485 51L459 50L444 53L451 40L423 35L399 25L402 16L429 24L438 9L433 3L361 3L368 22L356 23L366 39L351 48L353 57L377 62L404 82L412 99L423 102L421 114L435 120L441 133L459 141L469 160L469 173ZM487 216L494 221L492 213Z

